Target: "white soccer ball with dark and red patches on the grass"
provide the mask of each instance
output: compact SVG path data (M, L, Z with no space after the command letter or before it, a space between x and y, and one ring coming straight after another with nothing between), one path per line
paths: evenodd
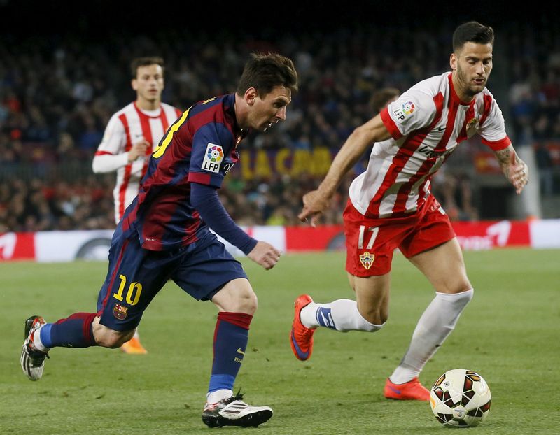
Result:
M471 370L446 371L430 391L433 415L444 426L477 426L488 417L491 403L488 384Z

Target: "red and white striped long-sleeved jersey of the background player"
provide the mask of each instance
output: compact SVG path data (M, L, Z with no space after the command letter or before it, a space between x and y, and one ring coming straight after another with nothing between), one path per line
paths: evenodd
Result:
M152 148L160 143L169 125L180 115L181 110L169 104L162 103L157 110L148 111L141 110L136 102L132 102L109 120L103 140L95 152L92 167L95 173L117 171L117 182L113 190L117 224L138 194L140 180L148 169ZM146 151L146 156L128 163L127 152L141 138L145 138L151 147Z

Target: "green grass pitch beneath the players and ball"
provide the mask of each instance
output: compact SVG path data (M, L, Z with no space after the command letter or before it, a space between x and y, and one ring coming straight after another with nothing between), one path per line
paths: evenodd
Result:
M250 404L274 416L258 429L208 429L200 420L211 369L216 309L174 283L139 327L148 355L103 348L50 352L43 379L19 364L24 321L94 311L104 262L0 264L0 434L559 434L560 250L465 252L475 297L420 379L472 369L489 383L489 418L444 428L429 405L388 401L385 378L405 352L433 290L400 254L393 261L389 320L375 334L320 329L314 354L295 359L293 300L352 298L344 255L285 255L270 271L243 259L259 309L237 378ZM223 432L222 432L223 431Z

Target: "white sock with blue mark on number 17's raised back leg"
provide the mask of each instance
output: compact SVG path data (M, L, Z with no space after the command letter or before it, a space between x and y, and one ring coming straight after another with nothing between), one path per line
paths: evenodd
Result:
M374 332L383 327L383 325L374 325L365 320L358 311L356 301L350 299L337 299L330 304L311 302L302 309L300 318L305 327L324 326L342 332Z

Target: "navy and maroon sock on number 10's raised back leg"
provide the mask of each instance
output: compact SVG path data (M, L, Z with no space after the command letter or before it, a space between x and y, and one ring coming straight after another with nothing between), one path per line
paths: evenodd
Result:
M93 338L93 320L97 313L74 313L41 328L41 342L46 348L89 348L97 345Z

